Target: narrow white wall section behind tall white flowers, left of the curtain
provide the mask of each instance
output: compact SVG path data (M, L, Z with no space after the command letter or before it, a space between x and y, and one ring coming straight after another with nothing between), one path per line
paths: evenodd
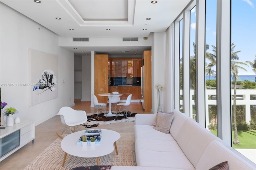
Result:
M152 33L152 113L156 114L158 107L157 91L155 84L164 85L165 67L165 32ZM167 88L167 87L166 87ZM163 95L161 96L163 98ZM162 100L162 99L161 99Z

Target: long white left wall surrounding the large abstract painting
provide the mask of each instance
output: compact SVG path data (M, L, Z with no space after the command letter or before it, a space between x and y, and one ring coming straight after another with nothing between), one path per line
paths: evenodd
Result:
M29 48L58 55L58 98L29 107L29 87L1 86L6 108L16 108L19 113L15 116L21 121L35 119L38 125L56 115L61 107L74 105L74 53L59 47L58 35L2 3L0 22L0 84L29 83Z

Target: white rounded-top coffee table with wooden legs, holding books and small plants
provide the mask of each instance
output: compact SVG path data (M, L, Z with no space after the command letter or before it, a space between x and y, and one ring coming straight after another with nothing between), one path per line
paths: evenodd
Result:
M116 154L118 155L116 146L116 140L120 138L118 132L102 129L100 144L96 144L95 146L90 146L89 144L87 144L87 146L77 145L77 141L84 132L85 130L74 132L62 139L60 146L65 152L62 166L65 164L67 154L83 158L97 157L97 165L100 164L99 157L113 152L114 146L116 148Z

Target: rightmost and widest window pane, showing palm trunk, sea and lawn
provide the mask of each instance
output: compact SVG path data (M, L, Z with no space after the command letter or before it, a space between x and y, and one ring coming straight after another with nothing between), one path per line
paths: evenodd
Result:
M256 0L231 0L232 143L256 149Z

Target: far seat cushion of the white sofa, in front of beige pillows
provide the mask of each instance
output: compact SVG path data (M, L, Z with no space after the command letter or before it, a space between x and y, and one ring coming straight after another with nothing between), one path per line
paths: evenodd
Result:
M143 138L144 140L160 138L162 140L175 141L170 133L166 134L155 130L153 129L153 126L150 125L134 125L134 134L135 141L138 138Z

